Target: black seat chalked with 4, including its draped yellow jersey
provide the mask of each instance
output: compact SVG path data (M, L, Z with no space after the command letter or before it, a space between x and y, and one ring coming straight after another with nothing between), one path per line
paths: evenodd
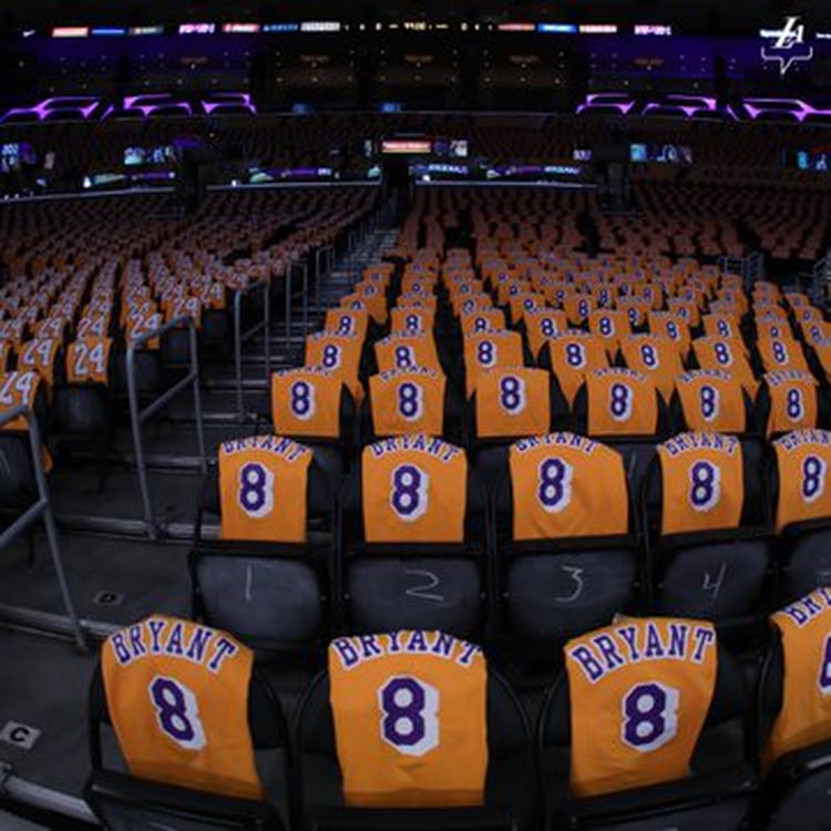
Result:
M716 620L722 635L760 623L772 533L762 464L758 442L716 433L658 448L642 499L656 612Z

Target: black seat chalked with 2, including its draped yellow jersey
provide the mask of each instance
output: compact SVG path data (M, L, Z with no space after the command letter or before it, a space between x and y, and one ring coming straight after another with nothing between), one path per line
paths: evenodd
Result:
M486 501L462 450L425 437L365 448L341 516L338 567L353 630L478 629L488 591Z

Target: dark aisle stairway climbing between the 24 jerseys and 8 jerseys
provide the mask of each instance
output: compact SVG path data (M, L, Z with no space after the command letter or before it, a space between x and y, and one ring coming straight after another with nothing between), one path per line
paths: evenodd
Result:
M312 301L304 322L301 298L295 296L287 327L284 295L277 293L273 369L301 360L306 335L322 325L326 309L350 290L367 264L394 238L392 230L372 230L336 259L321 283L319 316ZM201 398L208 459L215 458L220 441L250 434L256 413L268 411L264 347L264 338L257 337L244 349L242 419L233 355L208 355L203 361ZM0 558L0 606L40 613L37 619L22 614L17 627L0 626L4 658L0 663L0 807L9 798L75 820L92 820L81 793L89 776L85 699L98 644L114 628L153 612L191 614L187 554L202 480L192 393L172 401L143 434L156 540L147 537L143 522L133 438L125 418L115 432L119 459L103 488L92 454L60 459L50 476L65 571L88 630L89 655L79 654L69 635L44 535L38 531L30 541L18 541ZM218 529L205 532L216 534ZM44 623L57 634L32 632ZM281 679L281 695L290 709L308 679L298 676L293 683L285 673ZM54 823L50 822L60 825Z

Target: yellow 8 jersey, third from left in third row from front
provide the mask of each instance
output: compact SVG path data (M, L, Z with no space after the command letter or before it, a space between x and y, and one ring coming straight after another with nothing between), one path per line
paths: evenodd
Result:
M475 393L478 439L542 435L551 430L551 376L543 369L483 370Z

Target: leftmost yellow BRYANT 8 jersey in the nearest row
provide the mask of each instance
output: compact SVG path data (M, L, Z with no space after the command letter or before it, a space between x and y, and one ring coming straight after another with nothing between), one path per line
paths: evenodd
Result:
M264 798L248 728L254 655L226 632L153 615L101 650L107 709L130 772Z

